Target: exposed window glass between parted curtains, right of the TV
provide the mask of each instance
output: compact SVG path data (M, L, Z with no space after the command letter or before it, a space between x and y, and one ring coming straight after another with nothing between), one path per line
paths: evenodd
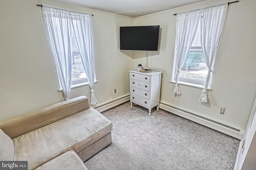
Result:
M180 69L180 81L204 85L208 68L204 61L204 55L200 40L200 21L196 35L183 67Z

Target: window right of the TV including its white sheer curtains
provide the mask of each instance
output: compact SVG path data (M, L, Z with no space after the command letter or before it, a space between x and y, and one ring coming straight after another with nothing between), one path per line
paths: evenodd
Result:
M180 79L195 83L192 86L203 84L204 90L199 101L207 102L206 93L210 87L218 41L227 12L228 3L177 14L172 74L175 80L174 95L181 95L178 87Z

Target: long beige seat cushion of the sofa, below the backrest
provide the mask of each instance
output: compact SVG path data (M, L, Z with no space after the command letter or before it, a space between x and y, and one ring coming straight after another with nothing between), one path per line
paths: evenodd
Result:
M80 152L111 131L111 121L89 108L12 139L14 160L27 160L34 169L67 150Z

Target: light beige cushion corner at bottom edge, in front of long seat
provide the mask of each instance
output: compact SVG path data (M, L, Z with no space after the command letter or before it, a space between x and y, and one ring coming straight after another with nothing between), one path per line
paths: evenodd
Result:
M53 158L52 160L42 164L36 170L88 170L84 162L74 152L68 150L64 154Z

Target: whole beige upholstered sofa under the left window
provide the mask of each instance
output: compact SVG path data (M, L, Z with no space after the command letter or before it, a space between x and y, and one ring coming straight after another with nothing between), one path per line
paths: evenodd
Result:
M84 162L112 142L111 121L85 96L0 121L0 129L0 160L28 161L29 170L76 154Z

